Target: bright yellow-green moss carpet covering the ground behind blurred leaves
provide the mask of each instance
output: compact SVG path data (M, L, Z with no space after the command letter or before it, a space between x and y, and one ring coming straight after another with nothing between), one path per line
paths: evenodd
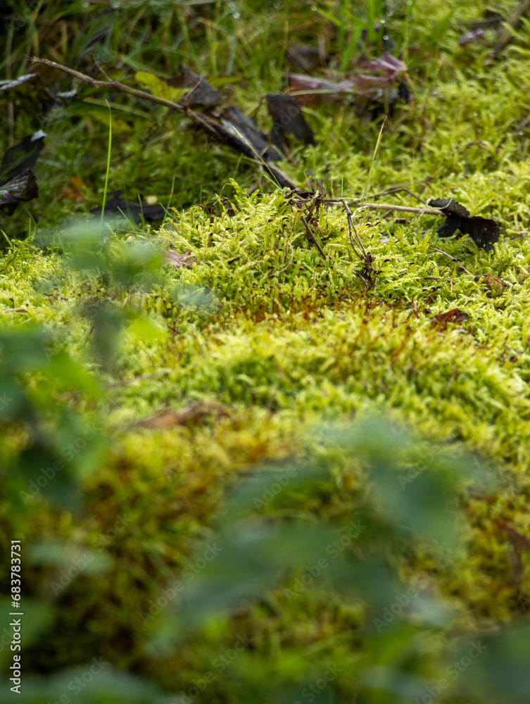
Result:
M177 38L165 70L172 73L174 63L193 57L192 68L222 75L232 61L242 79L234 86L235 99L250 112L260 94L281 89L284 65L272 63L271 47L284 56L291 42L308 39L303 27L312 28L328 46L340 41L322 15L315 23L312 15L318 13L291 4L276 7L260 34L259 23L271 15L271 4L255 5L245 4L244 30L232 13L223 14L222 4L195 24L178 14L193 14L191 9L166 8L160 37L169 42L175 32ZM501 5L511 8L512 3ZM105 555L112 565L107 571L82 572L57 590L53 584L70 565L66 548L53 564L28 558L28 596L57 607L53 637L35 641L24 654L28 672L49 673L103 655L173 693L189 691L205 672L214 672L198 702L258 700L260 684L272 680L278 692L271 685L270 697L279 697L281 685L297 700L300 683L317 679L322 662L331 659L346 672L333 687L337 700L360 701L367 695L351 674L357 672L355 663L392 665L401 658L399 667L406 672L436 677L446 639L517 622L527 610L526 553L517 567L502 525L523 536L529 527L530 155L524 125L529 27L519 28L517 41L499 61L485 61L485 46L458 45L462 22L478 18L481 3L460 4L438 39L431 37L447 15L447 3L392 7L387 26L408 61L414 99L394 106L386 120L369 191L407 184L419 193L424 187L423 199L452 196L473 215L496 218L502 236L493 255L477 250L469 238L439 239L441 219L432 215L396 221L383 209L369 215L352 206L355 227L378 272L377 283L366 290L342 208L322 206L317 213L324 259L282 191L263 181L247 195L255 165L239 169L238 156L186 125L181 130L161 113L143 142L130 140L132 128L144 134L139 115L124 118L121 127L116 122L113 144L119 153L113 156L110 187L125 183L130 199L132 189L155 194L163 203L173 190L173 205L199 205L175 210L156 230L123 232L118 225L108 230L110 241L103 243L98 260L101 271L76 262L68 251L38 249L38 238L6 248L0 261L3 329L42 325L53 336L50 352L94 372L104 389L85 394L75 386L80 374L60 384L51 367L26 370L21 383L42 414L43 427L62 422L64 429L58 409L66 408L65 416L80 415L104 430L110 446L108 453L101 451L103 460L92 462L92 470L86 469L89 460L84 470L81 463L78 467L80 512L52 507L37 496L21 514L28 546L60 541L72 550ZM128 47L127 61L141 68L159 51L160 37L151 37L137 59L129 39L114 33L109 41L115 48ZM205 37L208 50L201 56L195 42L204 43ZM301 184L315 170L329 194L355 200L367 184L380 121L360 119L350 106L315 108L308 119L318 146L295 146L294 161L284 168ZM270 127L261 108L257 120ZM77 127L80 139L91 144L106 125L99 130L92 113ZM51 137L53 159L44 159L41 172L44 197L30 207L41 217L39 235L44 225L57 224L72 210L53 200L58 186L65 185L53 180L53 170L87 180L89 199L81 211L101 201L103 151L88 158L86 149L72 151L72 139L63 125ZM53 198L46 190L50 184ZM203 196L208 207L201 203ZM415 205L405 193L383 200ZM144 272L144 263L149 268L155 261L146 245L189 251L196 263L179 270L157 265L154 274ZM486 275L503 283L492 285ZM102 304L115 315L107 320L116 325L115 356L110 346L103 349L106 334L97 327L94 311ZM434 315L453 308L464 310L467 320L434 325ZM167 429L137 425L196 401L222 403L226 415ZM414 641L408 624L396 631L396 639L399 635L408 643L396 659L380 653L379 641L367 634L371 615L363 603L347 592L330 597L325 582L298 593L299 575L293 573L232 619L210 622L200 635L182 639L175 652L160 654L153 646L155 624L142 614L149 614L162 589L184 579L196 551L214 539L234 488L256 467L276 472L293 458L312 461L327 468L329 482L284 504L271 502L263 513L271 520L302 516L308 524L319 519L337 529L363 505L370 486L361 460L322 441L316 429L327 422L347 429L372 413L406 425L436 450L437 458L456 463L472 451L495 467L500 485L486 500L462 490L463 537L450 564L441 567L436 551L424 544L399 546L389 555L400 577L416 584L427 574L429 593L455 610L446 631L433 627L427 634L430 650L420 643L427 636ZM27 426L6 421L0 438L6 477L10 463L31 442ZM7 501L0 511L6 531L14 529ZM122 529L116 527L120 517ZM233 648L241 633L252 648L232 667L216 668L215 658ZM462 694L455 701L467 699Z

